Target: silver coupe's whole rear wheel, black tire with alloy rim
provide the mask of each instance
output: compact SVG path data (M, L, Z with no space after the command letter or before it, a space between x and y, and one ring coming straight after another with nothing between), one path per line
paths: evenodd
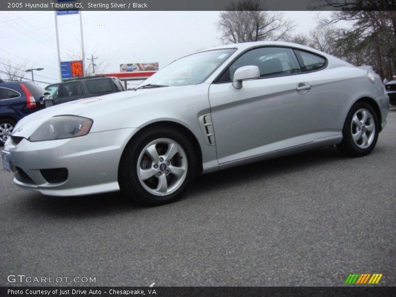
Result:
M378 133L378 117L374 109L365 102L358 102L347 115L343 141L337 147L347 156L365 156L377 144Z

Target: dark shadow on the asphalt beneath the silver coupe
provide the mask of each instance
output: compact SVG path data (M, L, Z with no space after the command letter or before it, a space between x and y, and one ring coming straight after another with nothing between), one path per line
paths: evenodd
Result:
M376 150L378 151L378 149ZM345 157L337 149L326 147L209 173L196 178L192 189L185 195L184 199L186 203L189 203L196 198L210 198L210 193L219 189L219 187L227 188L235 183L245 183L253 179L287 175L309 166L316 167L334 161L343 162L344 159ZM152 207L129 201L120 192L78 197L51 197L37 193L33 195L29 193L26 196L23 198L25 204L23 207L50 216L100 216L152 209ZM175 207L176 205L178 205L177 202L160 207ZM185 207L184 204L180 205Z

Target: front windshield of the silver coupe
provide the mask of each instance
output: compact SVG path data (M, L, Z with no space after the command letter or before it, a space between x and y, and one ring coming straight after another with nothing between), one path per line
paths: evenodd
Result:
M202 51L180 58L144 81L141 86L187 86L202 83L236 49Z

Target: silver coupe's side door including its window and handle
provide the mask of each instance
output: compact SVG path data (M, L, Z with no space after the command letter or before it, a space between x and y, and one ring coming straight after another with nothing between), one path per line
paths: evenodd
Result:
M234 88L234 72L247 65L259 68L260 79ZM220 164L314 140L318 88L293 49L247 51L210 85L209 101Z

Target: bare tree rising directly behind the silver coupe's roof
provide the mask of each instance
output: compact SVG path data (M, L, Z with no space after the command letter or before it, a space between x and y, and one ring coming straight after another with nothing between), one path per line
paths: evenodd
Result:
M264 0L232 2L220 12L217 28L223 44L261 40L287 40L293 22L284 12L265 10Z

